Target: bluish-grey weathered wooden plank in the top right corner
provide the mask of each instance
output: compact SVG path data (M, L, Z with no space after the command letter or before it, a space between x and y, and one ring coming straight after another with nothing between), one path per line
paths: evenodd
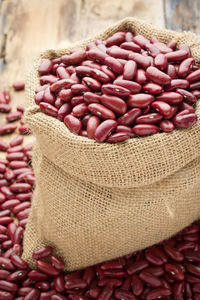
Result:
M200 34L199 0L164 0L165 26L177 30L191 30Z

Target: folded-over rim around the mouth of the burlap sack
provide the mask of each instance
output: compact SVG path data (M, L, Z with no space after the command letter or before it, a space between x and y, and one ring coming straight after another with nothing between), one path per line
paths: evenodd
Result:
M147 38L154 35L164 43L171 39L175 39L178 45L187 43L200 65L200 36L160 29L137 18L125 18L88 39L71 44L67 49L46 50L35 59L26 81L25 119L33 134L42 141L43 155L65 172L99 186L132 188L153 184L196 159L200 155L200 121L192 128L174 130L170 134L159 133L128 139L124 143L100 144L73 134L64 123L42 113L34 102L35 89L40 85L37 70L42 58L60 57L68 54L70 49L85 47L91 41L105 40L117 31L132 31ZM199 117L199 103L196 113Z

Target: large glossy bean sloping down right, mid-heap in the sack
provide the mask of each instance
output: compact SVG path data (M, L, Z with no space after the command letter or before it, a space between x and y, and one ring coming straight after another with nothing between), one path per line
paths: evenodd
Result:
M124 102L119 97L111 96L111 95L102 95L100 101L104 106L108 107L109 109L111 109L113 112L117 114L124 114L127 111L126 102Z

